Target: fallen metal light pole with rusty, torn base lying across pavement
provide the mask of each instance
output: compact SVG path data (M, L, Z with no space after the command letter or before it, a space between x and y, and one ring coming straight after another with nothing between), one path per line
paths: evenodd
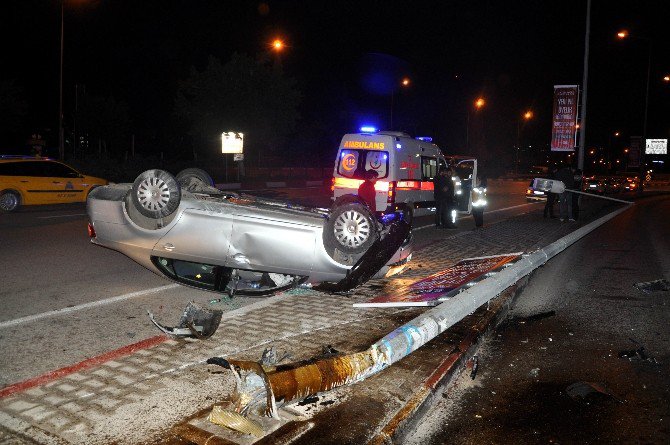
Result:
M630 203L629 203L630 204ZM277 408L296 399L358 382L408 356L468 314L500 295L521 278L630 208L622 207L593 221L545 248L527 255L510 267L477 283L384 336L363 352L315 358L303 362L263 366L252 361L211 358L235 374L236 410L243 414L279 418Z

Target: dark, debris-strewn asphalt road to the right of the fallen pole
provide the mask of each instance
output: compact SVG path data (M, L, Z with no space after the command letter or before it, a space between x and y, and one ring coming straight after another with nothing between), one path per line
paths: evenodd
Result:
M408 443L670 443L670 295L634 287L670 278L669 219L639 200L540 268Z

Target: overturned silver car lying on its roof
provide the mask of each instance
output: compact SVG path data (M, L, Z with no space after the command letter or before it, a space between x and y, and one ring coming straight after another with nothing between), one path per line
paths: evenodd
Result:
M87 207L93 243L231 296L300 285L345 292L411 259L400 213L378 218L355 195L319 209L224 192L200 169L148 170L133 184L96 188Z

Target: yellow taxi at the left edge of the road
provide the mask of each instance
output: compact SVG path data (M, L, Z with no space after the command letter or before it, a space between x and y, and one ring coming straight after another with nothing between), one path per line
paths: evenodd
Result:
M92 189L107 184L52 159L0 155L0 212L22 205L85 202Z

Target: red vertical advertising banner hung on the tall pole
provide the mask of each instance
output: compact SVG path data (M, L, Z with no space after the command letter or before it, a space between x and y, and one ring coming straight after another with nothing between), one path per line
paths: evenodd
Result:
M578 85L554 85L551 151L575 151Z

